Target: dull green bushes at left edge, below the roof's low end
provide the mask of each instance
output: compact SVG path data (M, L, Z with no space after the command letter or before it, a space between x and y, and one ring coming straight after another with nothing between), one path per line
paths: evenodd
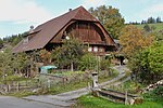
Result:
M27 68L32 65L30 56L26 53L13 54L12 50L4 49L0 52L0 75L5 76L18 73L29 77Z

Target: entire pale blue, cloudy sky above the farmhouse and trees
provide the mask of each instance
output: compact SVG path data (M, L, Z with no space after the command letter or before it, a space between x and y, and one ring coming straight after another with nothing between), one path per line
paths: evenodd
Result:
M163 21L163 0L0 0L0 38L23 33L38 25L80 5L112 5L125 22L141 22L148 17Z

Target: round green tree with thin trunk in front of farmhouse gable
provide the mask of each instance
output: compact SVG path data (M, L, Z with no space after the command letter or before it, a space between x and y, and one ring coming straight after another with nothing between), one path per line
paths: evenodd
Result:
M79 58L84 54L84 45L79 40L71 37L71 39L65 40L62 46L52 53L52 58L57 60L57 63L61 62L63 66L70 65L71 70L74 71L74 65L79 62Z

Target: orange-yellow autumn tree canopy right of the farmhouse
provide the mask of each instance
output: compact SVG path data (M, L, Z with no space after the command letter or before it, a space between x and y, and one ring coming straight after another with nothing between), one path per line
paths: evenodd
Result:
M127 25L122 29L120 44L123 46L122 53L126 57L141 49L148 48L153 41L151 33L146 33L133 25Z

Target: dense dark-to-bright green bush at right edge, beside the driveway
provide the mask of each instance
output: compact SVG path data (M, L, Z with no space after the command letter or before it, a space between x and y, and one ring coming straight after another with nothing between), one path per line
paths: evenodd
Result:
M141 52L137 52L128 63L129 68L136 76L136 80L142 83L153 83L163 79L162 55L162 42L155 42L150 48Z

